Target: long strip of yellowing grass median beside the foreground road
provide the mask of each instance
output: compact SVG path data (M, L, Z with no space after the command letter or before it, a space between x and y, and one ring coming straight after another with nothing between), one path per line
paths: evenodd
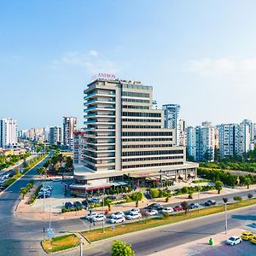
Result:
M256 204L256 199L244 200L237 203L227 205L227 209L233 210L240 207L247 207L250 205ZM198 218L202 216L207 216L213 213L224 212L224 206L216 207L207 207L201 209L199 212L195 209L191 212L185 214L180 212L174 215L171 215L169 218L148 218L146 220L140 220L134 223L119 224L115 226L114 230L111 230L110 227L105 228L105 233L102 233L102 229L96 229L82 232L90 241L99 241L102 239L107 239L114 236L124 235L126 233L131 233L139 230L147 230L154 227L158 227L166 224L174 224L185 219Z

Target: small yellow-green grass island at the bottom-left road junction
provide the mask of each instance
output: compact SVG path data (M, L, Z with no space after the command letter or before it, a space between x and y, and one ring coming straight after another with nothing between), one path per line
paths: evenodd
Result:
M46 253L54 253L79 246L79 237L73 234L57 236L51 240L51 243L49 243L49 240L42 241L42 246Z

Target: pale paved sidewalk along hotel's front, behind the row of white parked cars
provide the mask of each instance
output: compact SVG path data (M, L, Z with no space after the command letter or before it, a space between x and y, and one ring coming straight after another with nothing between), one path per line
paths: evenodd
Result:
M47 183L47 185L52 185L53 183ZM45 199L45 212L43 212L43 199L36 200L34 205L31 207L26 204L26 201L20 201L19 206L17 207L16 214L20 218L29 218L29 219L47 219L49 218L49 205L51 205L51 210L52 210L52 219L57 220L57 219L69 219L69 218L81 218L84 215L88 214L89 212L86 210L78 211L78 212L65 212L61 213L61 208L63 207L63 204L66 201L82 201L83 199L81 198L70 198L70 197L65 197L63 195L63 188L64 186L62 183L54 183L54 189L53 189L53 195L52 197L46 198ZM256 184L251 185L250 189L256 189ZM230 189L230 188L224 188L221 190L220 195L228 195L231 193L235 192L240 192L242 190L247 190L246 187L243 188L235 188L235 189ZM162 205L166 204L176 204L177 205L181 201L192 201L197 199L197 193L193 194L194 199L188 199L188 195L177 195L177 196L172 196L170 198L169 202L166 203L165 198L156 198L156 199L151 199L147 200L146 198L143 199L143 201L139 202L138 207L146 207L147 205L154 203L154 202L160 202ZM200 199L207 199L212 196L218 195L217 190L211 190L211 191L206 191L206 192L201 192L200 193ZM120 204L120 205L115 205L111 207L111 212L126 212L129 211L132 207L136 207L135 202L131 203L125 203L125 204ZM104 210L107 210L108 207L104 207ZM95 212L102 213L102 207L98 207L94 209Z

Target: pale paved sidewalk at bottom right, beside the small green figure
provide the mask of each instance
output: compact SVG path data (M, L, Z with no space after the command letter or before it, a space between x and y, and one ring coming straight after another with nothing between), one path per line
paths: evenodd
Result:
M190 241L177 247L168 248L166 250L149 254L149 256L166 256L166 255L193 255L194 253L207 253L212 247L220 245L226 241L230 236L241 236L244 230L234 229L229 230L228 234L219 233L213 236L207 236L196 241ZM212 237L214 245L208 244L209 239ZM207 254L206 254L207 255Z

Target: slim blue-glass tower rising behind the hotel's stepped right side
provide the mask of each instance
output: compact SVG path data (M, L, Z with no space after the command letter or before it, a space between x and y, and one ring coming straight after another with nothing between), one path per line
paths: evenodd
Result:
M178 113L180 105L177 104L165 104L162 106L164 110L164 125L165 128L174 129L175 132L175 145L179 145L178 137Z

